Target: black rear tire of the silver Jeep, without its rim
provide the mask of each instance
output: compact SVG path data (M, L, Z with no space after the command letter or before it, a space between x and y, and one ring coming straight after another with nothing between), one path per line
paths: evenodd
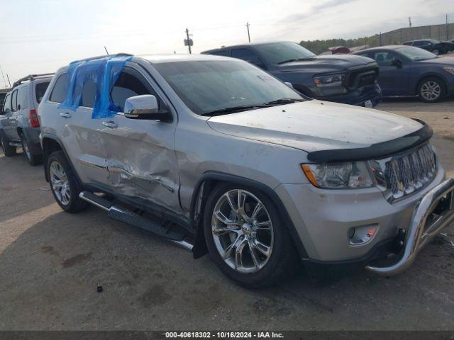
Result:
M52 173L50 171L50 166L52 163L56 162L57 164L60 164L62 169L65 171L67 183L69 184L70 188L70 194L69 194L69 201L67 203L62 203L62 200L58 197L57 193L55 193L54 188L52 186ZM65 153L62 151L55 151L50 154L50 157L48 159L48 163L45 164L45 171L47 171L47 174L49 175L49 185L50 185L50 191L52 191L52 194L57 201L58 205L60 207L67 211L67 212L79 212L81 210L86 209L89 206L89 203L85 200L82 200L79 198L79 193L82 191L82 186L79 183L79 180L77 179L77 176L74 174L74 171L72 171L72 167L70 166L70 163L68 162L67 158L65 157Z

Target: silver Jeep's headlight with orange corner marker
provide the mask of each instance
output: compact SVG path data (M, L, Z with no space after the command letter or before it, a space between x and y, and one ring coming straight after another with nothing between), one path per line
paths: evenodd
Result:
M370 188L374 182L365 162L301 164L307 179L317 188Z

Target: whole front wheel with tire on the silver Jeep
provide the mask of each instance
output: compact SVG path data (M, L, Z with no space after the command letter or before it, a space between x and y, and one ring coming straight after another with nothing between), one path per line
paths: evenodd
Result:
M204 210L204 234L211 259L226 276L248 288L273 285L297 263L279 212L260 191L223 184Z

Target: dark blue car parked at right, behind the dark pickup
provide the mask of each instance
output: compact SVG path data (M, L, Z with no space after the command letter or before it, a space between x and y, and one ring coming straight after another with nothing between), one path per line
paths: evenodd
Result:
M418 47L393 45L355 52L380 67L383 96L419 96L427 103L454 94L454 57L437 57Z

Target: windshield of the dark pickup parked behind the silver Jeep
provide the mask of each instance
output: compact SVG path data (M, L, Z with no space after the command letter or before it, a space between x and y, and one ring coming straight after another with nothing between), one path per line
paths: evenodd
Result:
M296 42L272 42L255 45L255 48L272 64L283 64L297 60L313 59L314 53Z

